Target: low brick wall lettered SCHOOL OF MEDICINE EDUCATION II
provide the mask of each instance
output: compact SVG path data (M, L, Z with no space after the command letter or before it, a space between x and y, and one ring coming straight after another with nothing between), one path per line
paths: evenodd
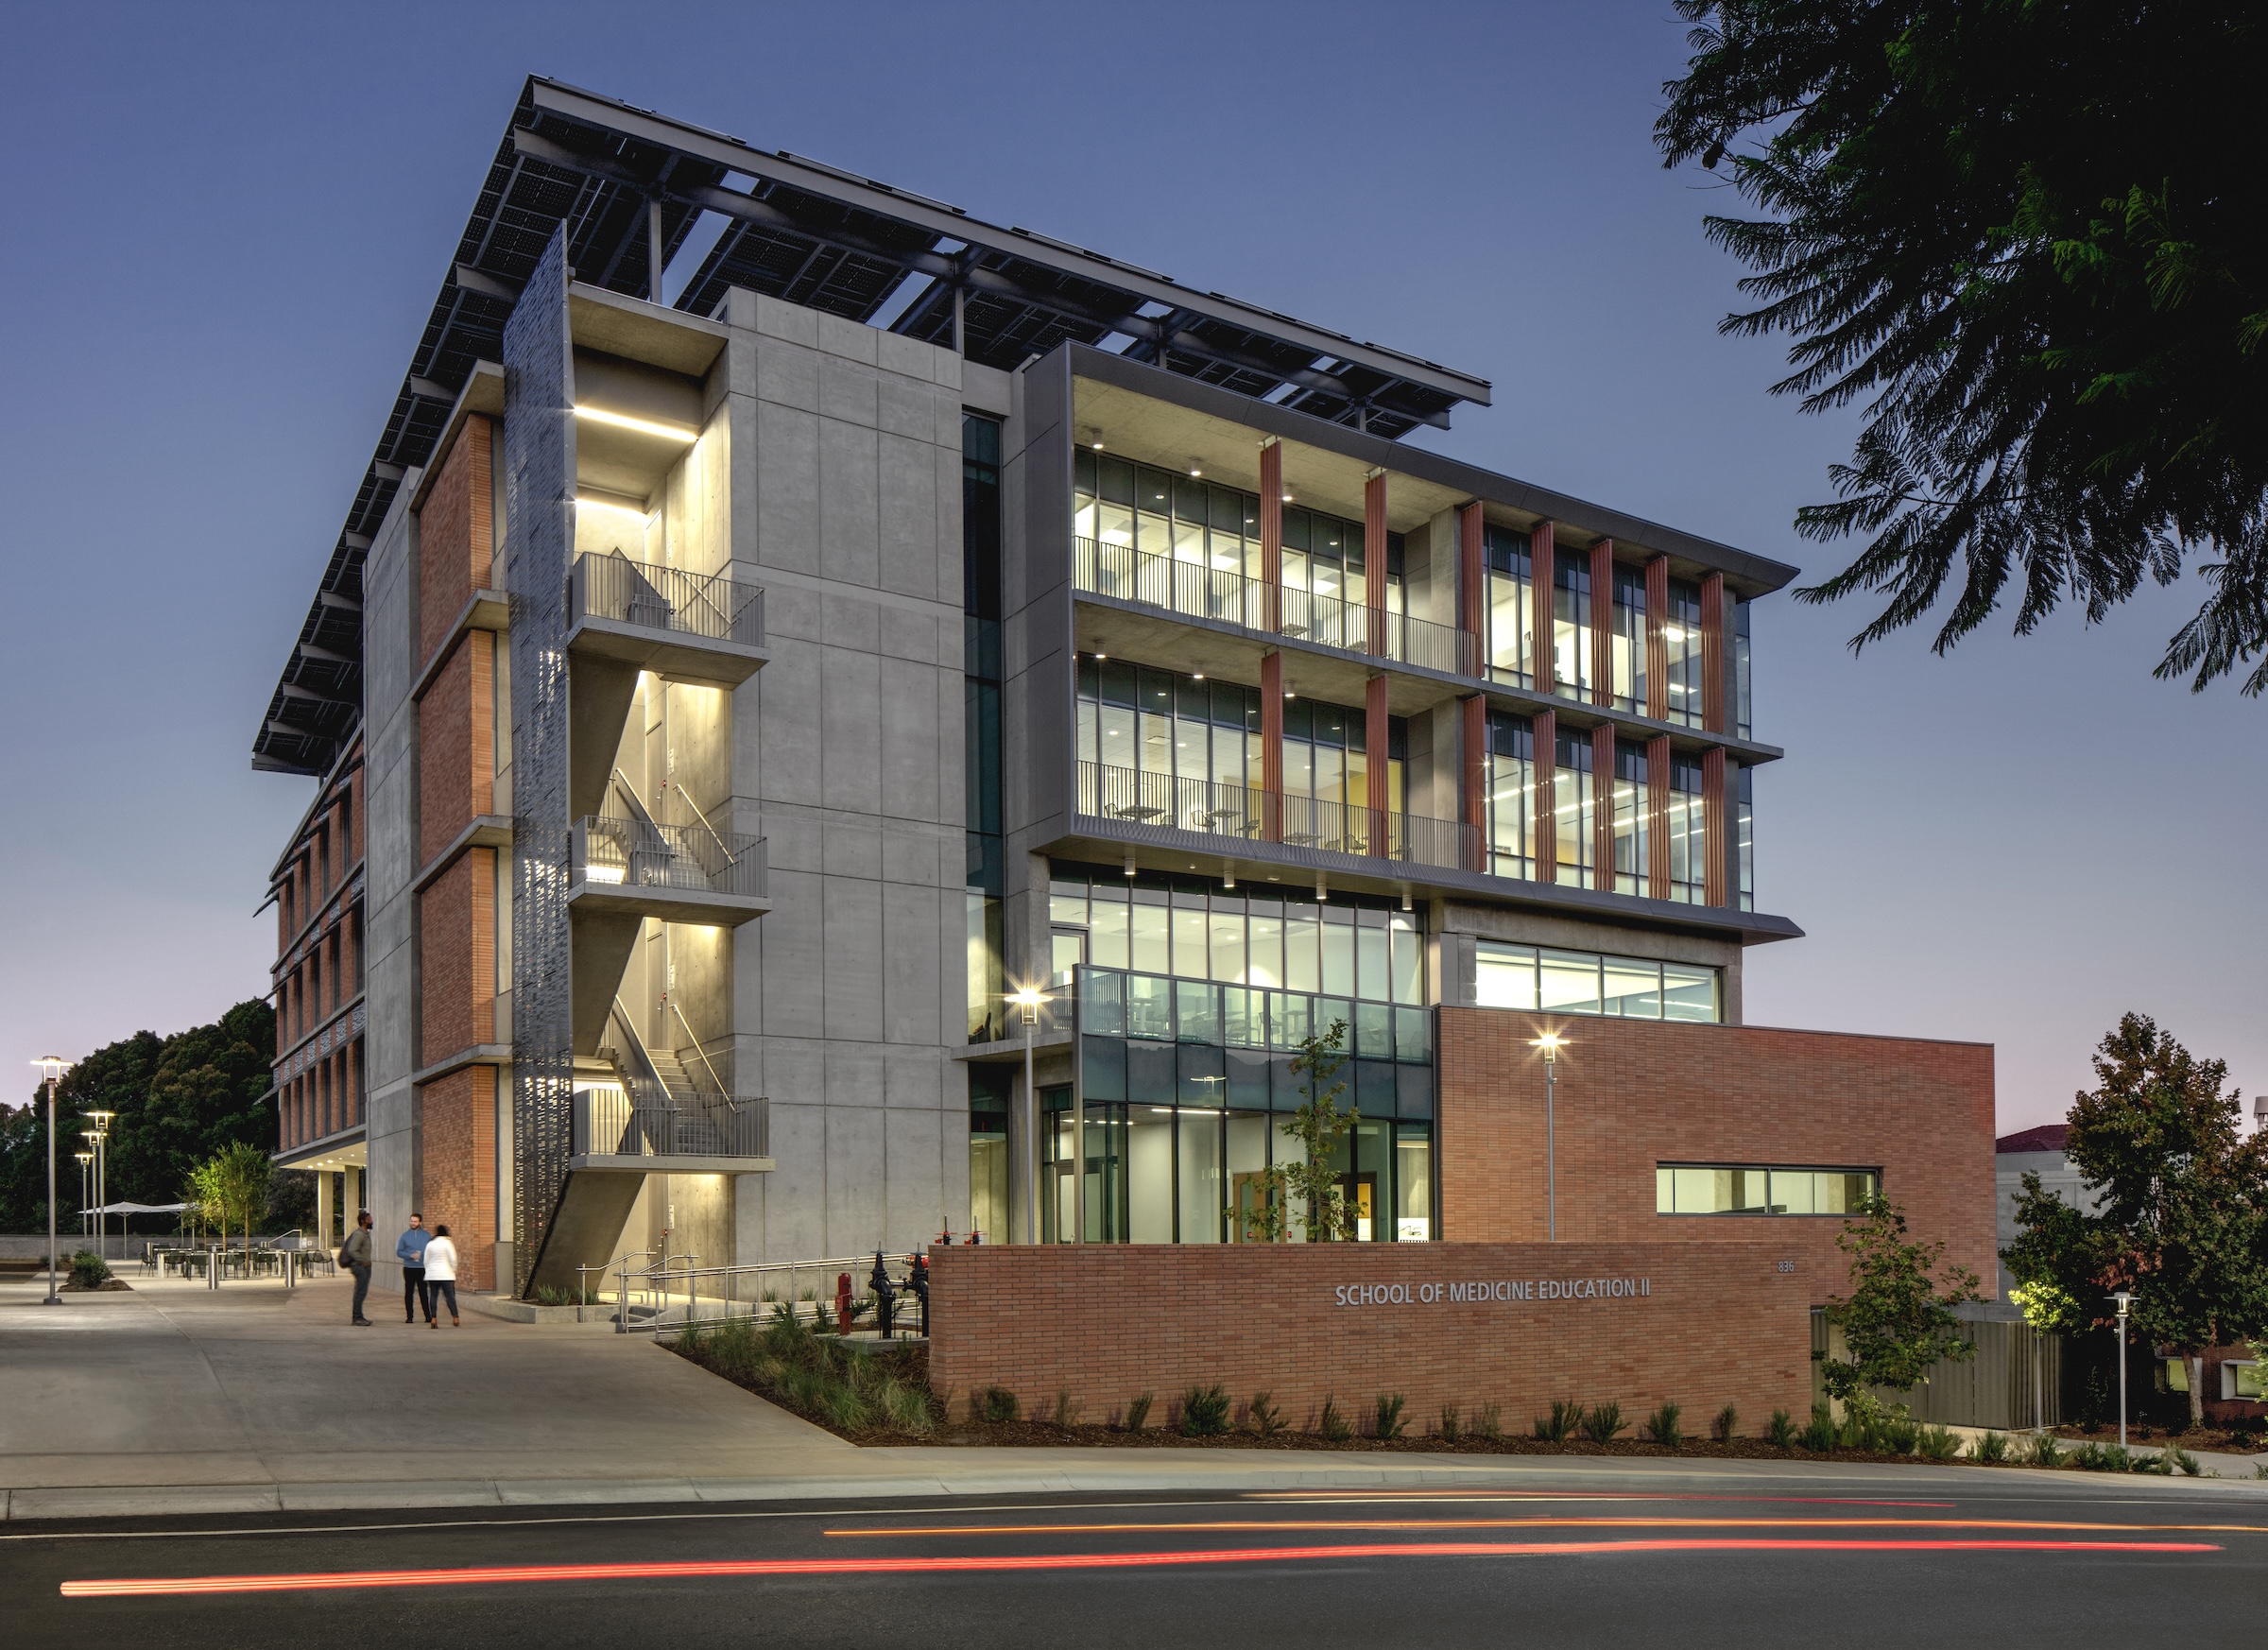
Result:
M1989 1213L1989 1204L1987 1204ZM1758 1432L1810 1410L1808 1258L1719 1244L1041 1244L932 1249L930 1380L953 1401L1009 1387L1023 1414L1068 1392L1086 1421L1154 1392L1163 1426L1191 1385L1238 1412L1272 1392L1313 1428L1325 1396L1368 1428L1381 1392L1411 1432L1456 1403L1501 1405L1526 1432L1554 1398L1615 1401L1631 1432L1662 1403L1703 1432L1726 1403ZM1545 1299L1547 1283L1644 1278L1647 1294ZM1452 1285L1524 1283L1533 1299L1449 1299ZM1399 1287L1399 1299L1377 1290ZM1372 1290L1343 1303L1340 1290ZM1436 1292L1431 1299L1427 1292ZM1495 1292L1492 1292L1495 1294Z

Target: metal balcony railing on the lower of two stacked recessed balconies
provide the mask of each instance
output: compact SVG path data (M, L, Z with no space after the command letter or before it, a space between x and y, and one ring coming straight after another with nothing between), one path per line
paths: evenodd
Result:
M1476 866L1481 852L1481 834L1458 820L1279 796L1250 784L1177 780L1170 773L1111 768L1100 762L1080 764L1077 809L1089 818L1123 825L1286 843L1447 870Z

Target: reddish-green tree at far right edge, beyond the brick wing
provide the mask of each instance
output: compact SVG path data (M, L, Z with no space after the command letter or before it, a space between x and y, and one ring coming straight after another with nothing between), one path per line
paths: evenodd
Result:
M2068 1294L2087 1328L2109 1328L2107 1296L2132 1292L2134 1333L2189 1362L2189 1419L2202 1423L2204 1351L2268 1333L2268 1145L2241 1133L2227 1063L2191 1056L2148 1015L2125 1015L2093 1065L2064 1154L2096 1213L2025 1176L2003 1258L2025 1285Z

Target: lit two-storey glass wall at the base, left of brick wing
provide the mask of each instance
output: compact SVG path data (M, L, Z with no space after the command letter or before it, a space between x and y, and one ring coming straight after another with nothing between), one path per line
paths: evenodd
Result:
M1300 1040L1347 1024L1345 1090L1361 1113L1343 1185L1368 1240L1433 1235L1433 1049L1424 934L1390 900L1329 902L1204 877L1052 868L1057 934L1086 934L1077 970L1086 1149L1068 1092L1043 1131L1057 1176L1050 1238L1241 1242L1284 1131L1306 1099ZM1077 1181L1077 1188L1073 1185ZM1293 1210L1293 1238L1304 1210Z

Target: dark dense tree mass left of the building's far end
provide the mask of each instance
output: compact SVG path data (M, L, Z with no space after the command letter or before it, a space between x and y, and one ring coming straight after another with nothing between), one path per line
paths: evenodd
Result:
M79 1165L70 1154L91 1111L113 1111L109 1199L179 1204L188 1170L247 1142L277 1149L277 1111L263 1097L277 1045L274 1009L254 997L213 1024L161 1038L136 1031L73 1065L54 1090L59 1224L77 1231ZM0 1231L48 1228L48 1090L0 1111Z

